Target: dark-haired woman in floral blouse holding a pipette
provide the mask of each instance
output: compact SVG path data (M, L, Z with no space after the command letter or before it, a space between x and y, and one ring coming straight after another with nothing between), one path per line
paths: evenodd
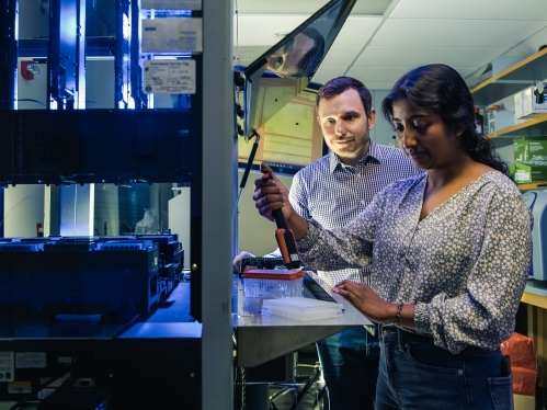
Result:
M383 323L376 409L512 409L500 344L529 269L529 212L476 133L472 96L454 69L411 70L383 110L426 172L387 186L339 230L299 217L276 179L257 181L255 205L271 220L283 209L308 267L371 263L371 287L343 281L333 292Z

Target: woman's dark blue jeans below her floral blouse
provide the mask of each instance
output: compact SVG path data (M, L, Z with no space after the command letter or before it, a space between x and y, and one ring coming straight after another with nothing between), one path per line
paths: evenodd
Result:
M377 410L512 410L513 375L500 350L452 354L432 338L395 327L380 332Z

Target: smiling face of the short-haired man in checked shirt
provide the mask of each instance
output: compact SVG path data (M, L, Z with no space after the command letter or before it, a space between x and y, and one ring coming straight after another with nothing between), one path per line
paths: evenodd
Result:
M341 162L354 167L368 152L368 135L375 117L372 110L371 118L367 118L363 101L354 89L330 99L322 98L317 109L317 119L327 146Z

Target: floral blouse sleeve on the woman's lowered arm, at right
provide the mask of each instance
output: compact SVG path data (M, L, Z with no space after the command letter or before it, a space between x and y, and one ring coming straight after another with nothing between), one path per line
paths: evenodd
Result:
M418 303L414 327L436 345L460 352L466 345L498 349L515 324L532 257L531 215L517 194L494 195L481 221L482 242L456 297L445 293Z

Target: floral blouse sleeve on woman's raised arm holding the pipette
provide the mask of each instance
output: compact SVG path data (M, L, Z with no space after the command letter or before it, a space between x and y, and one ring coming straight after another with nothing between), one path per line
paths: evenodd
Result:
M320 271L361 269L372 261L376 224L385 212L380 192L373 202L343 228L327 230L308 220L308 232L298 241L306 266Z

